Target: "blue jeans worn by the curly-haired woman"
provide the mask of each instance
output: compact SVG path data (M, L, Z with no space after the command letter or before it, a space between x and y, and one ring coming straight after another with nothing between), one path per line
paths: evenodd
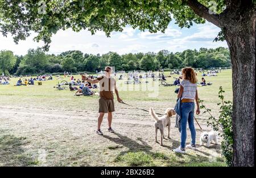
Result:
M181 103L181 119L180 119L180 129L181 129L181 148L185 148L185 143L187 139L187 122L188 127L191 132L191 144L196 144L196 129L194 126L194 102L183 102Z

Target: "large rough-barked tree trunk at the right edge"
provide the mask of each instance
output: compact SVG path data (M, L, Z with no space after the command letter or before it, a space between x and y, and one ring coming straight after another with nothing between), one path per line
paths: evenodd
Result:
M254 166L255 9L222 16L232 61L233 166Z

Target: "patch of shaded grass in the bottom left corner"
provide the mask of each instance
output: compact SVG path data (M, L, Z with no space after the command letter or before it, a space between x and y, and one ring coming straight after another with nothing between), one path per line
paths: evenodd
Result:
M22 146L26 138L14 135L0 135L0 165L1 166L28 166L38 164L37 161L27 156Z

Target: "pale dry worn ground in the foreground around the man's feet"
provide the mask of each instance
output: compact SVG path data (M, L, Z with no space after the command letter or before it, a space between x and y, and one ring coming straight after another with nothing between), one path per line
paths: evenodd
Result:
M131 102L137 105L137 102ZM102 123L104 136L95 133L97 126L97 101L86 110L47 109L42 106L0 106L0 165L118 165L114 160L126 152L170 153L179 146L179 131L171 123L171 139L164 140L164 147L154 143L154 119L148 113L129 106L116 104L113 114L115 134L107 131L106 117ZM140 102L140 107L160 108L168 106L163 102ZM199 117L204 130L206 121ZM201 130L196 126L197 143ZM167 130L166 130L167 134ZM190 141L188 130L187 142ZM220 156L220 145L210 148L199 147L188 150L188 155L204 156L209 160ZM38 160L38 162L35 162Z

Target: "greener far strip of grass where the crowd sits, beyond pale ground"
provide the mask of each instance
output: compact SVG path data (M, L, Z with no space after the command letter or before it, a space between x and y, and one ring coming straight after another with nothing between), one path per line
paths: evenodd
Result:
M169 72L164 72L166 76L170 75ZM80 78L81 76L74 76L75 78ZM174 77L178 77L177 74L167 77L168 83L174 82ZM26 78L26 77L23 77ZM117 78L117 77L116 77ZM198 72L199 81L201 81L201 73ZM216 77L204 77L207 82L212 82L211 86L199 86L199 97L201 100L204 100L205 103L217 104L219 102L218 98L218 88L222 86L225 90L225 99L232 101L232 78L231 70L222 71L218 73ZM54 78L53 78L54 79ZM61 80L52 80L52 81L43 81L42 86L13 86L16 84L18 78L11 78L10 85L1 85L0 94L1 94L1 103L5 104L20 104L26 105L28 102L33 103L33 105L48 105L52 107L61 107L65 102L64 106L75 106L83 108L85 98L75 98L72 95L72 92L69 90L58 91L53 89L53 86L56 86L57 82ZM64 78L63 80L70 81L70 77ZM145 79L142 79L144 81ZM151 80L151 79L148 79ZM124 82L125 80L123 80ZM120 91L120 96L124 101L176 101L176 93L174 90L176 86L159 86L159 95L158 97L148 97L148 93L151 91L132 91L133 88L138 87L138 84L123 84L126 87L127 91ZM68 86L68 85L67 85ZM130 87L131 89L129 89ZM130 91L131 90L131 91ZM86 100L94 100L98 96L87 97Z

